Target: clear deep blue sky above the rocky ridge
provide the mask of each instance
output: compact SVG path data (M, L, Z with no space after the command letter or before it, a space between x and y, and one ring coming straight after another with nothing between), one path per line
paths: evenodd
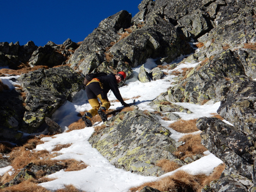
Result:
M134 16L142 0L2 0L0 42L44 46L84 38L108 16L127 10Z

